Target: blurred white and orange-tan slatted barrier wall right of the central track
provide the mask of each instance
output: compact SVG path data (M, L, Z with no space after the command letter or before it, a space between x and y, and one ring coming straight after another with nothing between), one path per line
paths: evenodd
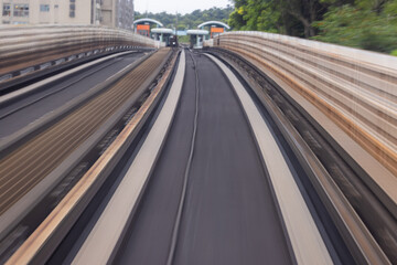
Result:
M397 176L397 57L265 32L208 44L276 73Z

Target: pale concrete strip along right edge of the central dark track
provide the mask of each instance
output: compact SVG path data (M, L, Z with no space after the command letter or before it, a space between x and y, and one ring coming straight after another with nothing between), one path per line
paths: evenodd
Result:
M206 54L233 84L270 176L298 264L333 264L313 218L273 136L242 83L219 60Z

